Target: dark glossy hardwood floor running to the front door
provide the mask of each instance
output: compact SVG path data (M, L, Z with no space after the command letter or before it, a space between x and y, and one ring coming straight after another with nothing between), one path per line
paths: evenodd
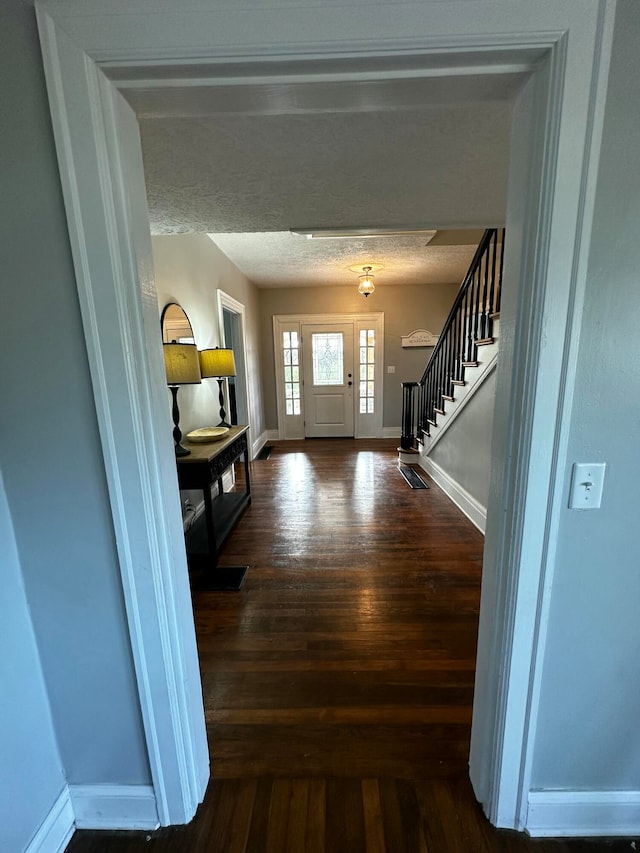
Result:
M185 827L77 832L71 853L596 853L485 820L468 781L482 536L397 440L276 444L193 595L212 760Z

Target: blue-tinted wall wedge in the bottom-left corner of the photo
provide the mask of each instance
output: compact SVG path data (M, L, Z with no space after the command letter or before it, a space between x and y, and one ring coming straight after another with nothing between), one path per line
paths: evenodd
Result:
M65 786L0 476L0 848L25 850Z

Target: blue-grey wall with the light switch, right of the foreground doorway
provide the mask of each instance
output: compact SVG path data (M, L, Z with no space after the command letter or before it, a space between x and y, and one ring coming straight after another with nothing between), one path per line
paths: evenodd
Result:
M534 788L640 790L640 573L631 521L640 425L635 0L619 3L614 38L569 436L570 461L607 469L602 508L565 508L560 521Z

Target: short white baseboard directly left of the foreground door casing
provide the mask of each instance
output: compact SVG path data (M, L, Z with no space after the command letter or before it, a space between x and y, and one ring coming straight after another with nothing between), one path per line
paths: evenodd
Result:
M151 785L70 785L78 829L157 829Z

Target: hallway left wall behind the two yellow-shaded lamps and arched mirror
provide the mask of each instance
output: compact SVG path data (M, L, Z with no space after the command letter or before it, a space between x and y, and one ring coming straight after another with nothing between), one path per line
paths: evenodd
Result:
M177 302L191 321L198 349L219 346L218 288L244 305L249 423L255 441L265 429L257 288L206 234L158 236L151 243L158 295L158 334L163 307L167 302ZM218 382L204 379L200 385L182 386L178 405L183 434L215 426L220 421ZM168 389L167 406L171 406Z

